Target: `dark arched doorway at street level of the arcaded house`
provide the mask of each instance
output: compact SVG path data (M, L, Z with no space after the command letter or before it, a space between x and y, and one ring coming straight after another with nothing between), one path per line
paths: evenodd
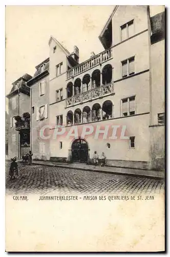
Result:
M86 162L88 161L89 147L84 139L75 139L71 146L72 149L72 161Z

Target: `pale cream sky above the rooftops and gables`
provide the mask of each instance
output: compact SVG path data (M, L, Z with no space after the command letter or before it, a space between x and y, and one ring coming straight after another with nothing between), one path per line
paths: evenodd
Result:
M79 62L104 50L98 36L114 6L6 6L6 95L12 82L49 57L53 35L70 52L79 48ZM153 7L153 13L156 10ZM156 10L157 12L157 10ZM8 109L8 100L6 108Z

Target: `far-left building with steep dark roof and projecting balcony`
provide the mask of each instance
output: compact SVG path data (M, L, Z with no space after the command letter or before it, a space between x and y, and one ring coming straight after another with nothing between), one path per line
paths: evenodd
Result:
M10 158L25 155L30 150L30 88L25 74L12 83L8 98L8 155ZM23 117L24 115L24 117Z

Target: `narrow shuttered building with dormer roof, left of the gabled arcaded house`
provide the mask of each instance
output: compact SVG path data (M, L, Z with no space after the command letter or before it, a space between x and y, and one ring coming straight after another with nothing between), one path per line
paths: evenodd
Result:
M49 124L49 58L38 64L33 78L27 85L31 88L31 142L34 159L50 158L49 142L41 140L40 127Z

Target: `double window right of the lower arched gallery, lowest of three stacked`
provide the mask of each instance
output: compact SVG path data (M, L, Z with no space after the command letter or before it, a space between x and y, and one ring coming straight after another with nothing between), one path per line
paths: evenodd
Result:
M121 116L135 115L135 96L121 100Z

